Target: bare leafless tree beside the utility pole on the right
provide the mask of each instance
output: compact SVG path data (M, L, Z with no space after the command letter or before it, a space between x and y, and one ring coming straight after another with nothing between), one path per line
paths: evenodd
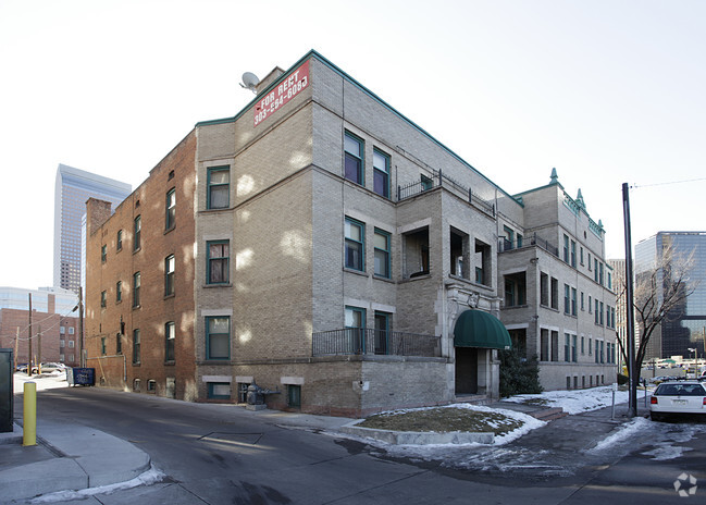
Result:
M697 282L690 279L694 267L694 251L689 256L674 253L673 246L662 249L661 258L654 264L642 266L635 273L633 307L640 345L635 350L635 371L639 374L647 352L647 344L655 330L662 322L673 321L682 316L685 301L694 293ZM624 275L620 275L619 297L626 295ZM624 362L628 362L627 343L616 338ZM632 378L630 383L632 384Z

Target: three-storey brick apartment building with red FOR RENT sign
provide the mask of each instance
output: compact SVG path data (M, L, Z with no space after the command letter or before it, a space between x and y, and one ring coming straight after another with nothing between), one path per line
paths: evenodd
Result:
M607 377L605 359L556 364L578 315L530 307L534 275L556 297L559 278L589 279L557 257L565 235L604 264L603 227L547 188L505 193L310 51L234 118L198 123L112 217L89 201L88 365L114 387L238 402L257 382L273 408L360 416L496 397L507 312L528 356L547 336L547 387L578 386L561 375L577 365Z

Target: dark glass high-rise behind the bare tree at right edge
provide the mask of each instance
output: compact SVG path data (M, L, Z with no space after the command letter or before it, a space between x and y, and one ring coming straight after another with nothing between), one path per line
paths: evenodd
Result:
M659 232L640 242L635 246L635 276L660 266L669 246L673 250L672 261L683 261L693 254L689 282L695 291L674 307L652 334L645 358L693 358L695 354L703 357L706 338L706 232ZM665 281L659 284L665 286ZM662 293L658 292L658 303L661 299Z

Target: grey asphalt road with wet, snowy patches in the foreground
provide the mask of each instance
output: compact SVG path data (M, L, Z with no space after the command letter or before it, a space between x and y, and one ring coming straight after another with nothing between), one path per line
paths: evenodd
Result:
M553 421L503 446L381 448L231 405L89 387L42 391L38 402L40 417L127 440L168 476L150 486L75 502L84 505L661 505L703 503L706 496L704 422L640 420L639 430L621 438L615 435L621 424L598 410ZM616 442L595 449L610 434ZM704 486L688 498L673 488L684 472Z

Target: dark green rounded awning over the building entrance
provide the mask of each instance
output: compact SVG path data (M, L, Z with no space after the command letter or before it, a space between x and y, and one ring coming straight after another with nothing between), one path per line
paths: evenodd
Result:
M510 349L512 341L505 325L495 316L482 310L466 310L456 320L454 345Z

